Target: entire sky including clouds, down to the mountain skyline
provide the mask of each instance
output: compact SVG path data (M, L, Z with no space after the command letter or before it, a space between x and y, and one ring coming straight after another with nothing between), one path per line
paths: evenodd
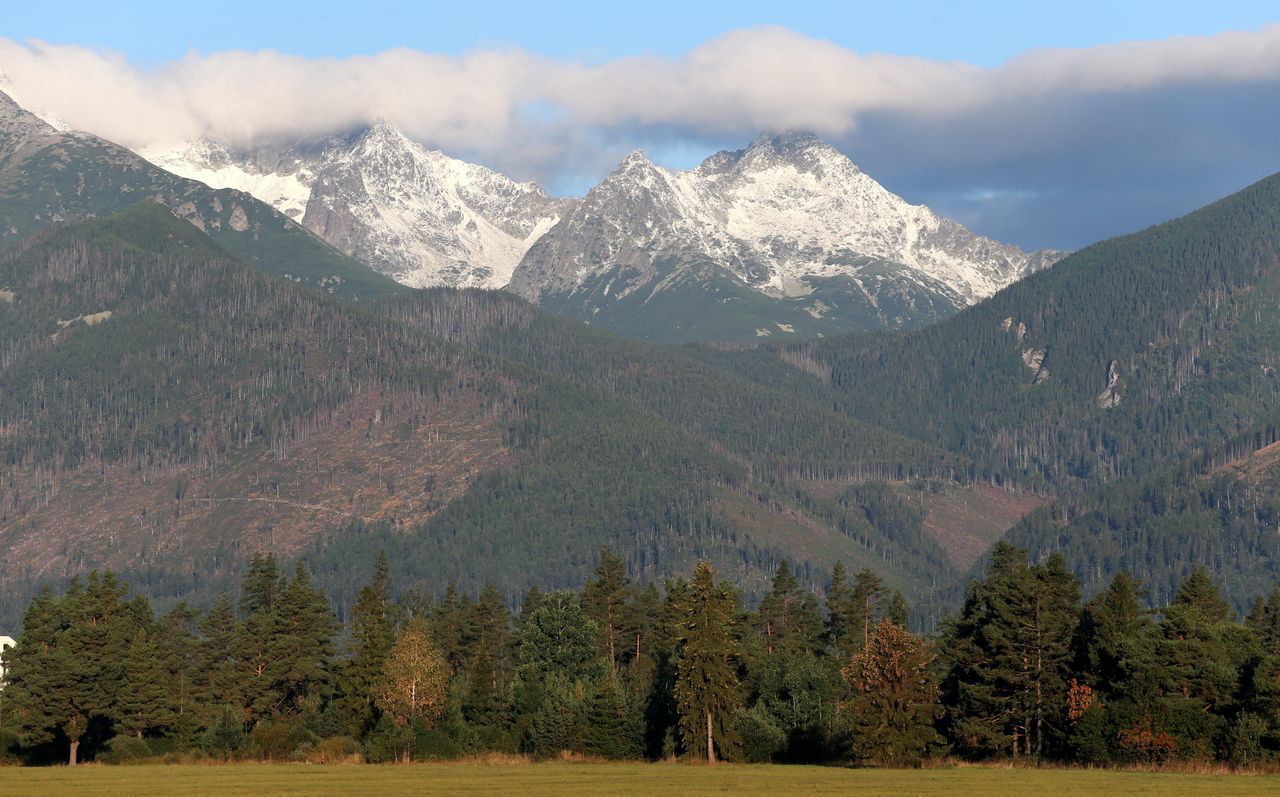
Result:
M22 3L18 99L133 147L388 119L579 193L814 132L977 232L1078 248L1280 170L1280 4ZM401 49L401 50L396 50Z

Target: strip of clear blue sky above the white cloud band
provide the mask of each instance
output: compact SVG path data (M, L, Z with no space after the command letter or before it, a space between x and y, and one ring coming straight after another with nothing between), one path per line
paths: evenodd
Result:
M584 60L680 55L726 31L791 28L860 52L992 67L1036 47L1088 47L1251 29L1280 18L1271 1L1074 0L1068 3L385 3L220 0L8 4L0 35L101 46L140 64L189 50L278 50L310 58L392 47L462 54L518 46ZM125 10L128 13L125 13Z

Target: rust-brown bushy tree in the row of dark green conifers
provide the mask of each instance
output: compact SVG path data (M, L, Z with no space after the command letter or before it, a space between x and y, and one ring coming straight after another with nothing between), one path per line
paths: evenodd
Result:
M890 766L915 766L943 739L933 729L941 715L933 655L920 637L884 619L872 642L842 670L852 690L854 752Z

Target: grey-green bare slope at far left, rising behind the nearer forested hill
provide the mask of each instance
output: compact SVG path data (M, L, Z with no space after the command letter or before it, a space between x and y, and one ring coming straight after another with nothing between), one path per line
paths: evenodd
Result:
M402 290L247 193L211 189L101 138L55 129L0 93L0 248L147 198L274 276L353 297Z

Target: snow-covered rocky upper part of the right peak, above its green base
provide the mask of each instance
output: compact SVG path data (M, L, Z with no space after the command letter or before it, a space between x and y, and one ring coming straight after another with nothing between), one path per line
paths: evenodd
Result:
M892 283L913 281L959 308L1059 257L1028 255L910 205L813 136L764 136L689 171L631 154L538 242L511 288L538 299L611 274L604 293L623 298L675 284L673 260L709 261L765 296L804 297L845 276L874 303L891 264ZM870 266L874 280L863 274Z

